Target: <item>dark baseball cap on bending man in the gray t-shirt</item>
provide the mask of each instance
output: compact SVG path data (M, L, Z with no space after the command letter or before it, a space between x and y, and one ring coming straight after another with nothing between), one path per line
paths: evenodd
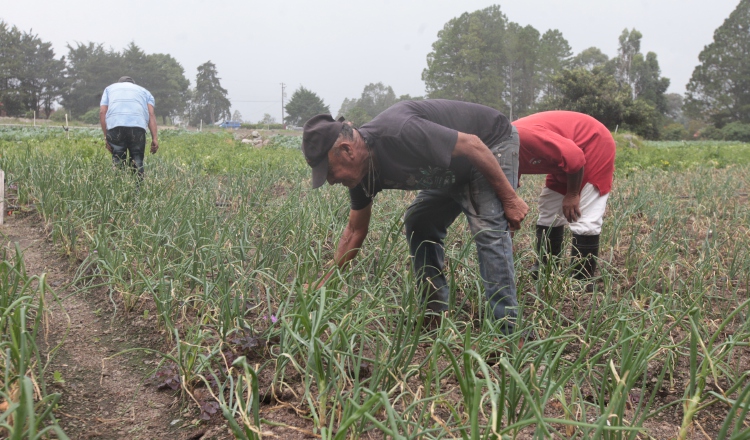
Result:
M305 122L302 130L302 153L313 169L313 188L319 188L326 182L328 152L336 143L343 125L343 116L333 119L331 115L316 115Z

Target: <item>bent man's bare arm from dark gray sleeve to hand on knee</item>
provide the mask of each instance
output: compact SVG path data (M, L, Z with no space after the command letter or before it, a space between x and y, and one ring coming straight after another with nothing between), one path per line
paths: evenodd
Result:
M456 156L465 156L482 173L503 203L505 218L508 219L511 229L519 229L529 212L529 207L518 197L497 159L484 142L477 136L459 132L456 147L453 149L453 157Z

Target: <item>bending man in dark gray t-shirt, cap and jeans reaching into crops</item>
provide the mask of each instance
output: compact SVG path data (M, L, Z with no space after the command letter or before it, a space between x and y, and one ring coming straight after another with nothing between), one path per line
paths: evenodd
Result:
M502 322L502 332L513 330L518 302L510 230L520 227L529 208L515 192L519 142L508 118L466 102L402 101L358 129L315 116L305 124L302 151L313 188L326 181L349 188L349 223L334 254L339 267L362 246L378 192L420 190L404 222L427 307L448 310L443 239L463 213L490 313Z

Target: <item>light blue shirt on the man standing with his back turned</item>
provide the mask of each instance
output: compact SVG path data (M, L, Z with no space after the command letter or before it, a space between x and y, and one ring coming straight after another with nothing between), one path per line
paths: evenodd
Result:
M107 130L115 127L148 128L148 104L154 105L151 92L129 83L114 83L104 89L99 105L107 108Z

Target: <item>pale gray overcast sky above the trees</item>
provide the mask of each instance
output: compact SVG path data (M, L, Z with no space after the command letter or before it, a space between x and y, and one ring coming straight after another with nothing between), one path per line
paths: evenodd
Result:
M463 12L499 4L510 21L540 33L558 29L574 53L591 46L617 53L624 28L642 34L641 51L656 52L669 92L684 93L698 54L739 0L0 0L0 20L33 30L57 55L66 44L131 41L146 53L171 54L191 85L211 60L232 109L245 120L281 117L300 85L335 114L344 98L381 81L396 95L424 94L422 70L437 33ZM137 72L132 72L137 81ZM113 78L115 81L116 78ZM156 96L159 105L159 97Z

